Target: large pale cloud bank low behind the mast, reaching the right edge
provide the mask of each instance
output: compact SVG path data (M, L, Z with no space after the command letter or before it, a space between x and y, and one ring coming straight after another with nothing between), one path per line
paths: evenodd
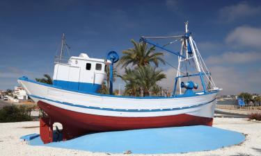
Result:
M221 94L239 94L240 92L261 93L257 84L261 83L261 68L257 69L256 62L261 61L261 53L252 52L228 52L220 56L210 56L206 64L216 86L222 88ZM251 69L240 69L240 65L253 64ZM159 85L163 88L173 89L173 81L176 70L170 68L164 71L166 79L161 80ZM194 80L196 83L199 81Z

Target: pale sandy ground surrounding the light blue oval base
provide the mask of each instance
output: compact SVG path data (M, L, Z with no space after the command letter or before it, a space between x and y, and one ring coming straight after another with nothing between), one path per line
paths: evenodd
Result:
M0 155L113 155L110 153L91 153L83 150L29 146L26 141L19 140L19 137L22 135L39 133L38 125L38 121L0 123ZM236 146L220 148L218 150L167 155L261 155L260 122L248 121L247 119L215 118L213 126L242 132L246 135L246 141Z

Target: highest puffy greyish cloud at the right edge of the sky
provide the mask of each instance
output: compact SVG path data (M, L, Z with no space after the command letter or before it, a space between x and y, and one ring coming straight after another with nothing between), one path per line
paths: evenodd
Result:
M226 43L232 46L261 48L261 28L239 26L228 34Z

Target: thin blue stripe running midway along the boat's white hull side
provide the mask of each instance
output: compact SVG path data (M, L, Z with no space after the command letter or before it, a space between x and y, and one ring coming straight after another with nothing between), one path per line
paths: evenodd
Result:
M164 111L173 111L173 110L186 110L186 109L193 108L193 107L200 107L202 105L207 105L208 103L212 103L213 101L216 100L216 98L214 98L212 101L209 101L207 103L200 103L198 105L191 105L191 106L187 106L187 107L175 107L175 108L156 109L156 110L123 110L123 109L113 109L113 108L105 108L105 107L92 107L92 106L85 106L85 105L74 105L72 103L54 101L52 99L43 98L43 97L40 97L40 96L35 96L35 95L29 95L29 96L34 97L34 98L40 98L42 100L52 101L52 102L55 102L55 103L61 103L63 105L70 105L70 106L73 106L73 107L83 107L83 108L88 108L88 109L93 109L93 110L106 110L106 111L117 111L117 112L164 112Z

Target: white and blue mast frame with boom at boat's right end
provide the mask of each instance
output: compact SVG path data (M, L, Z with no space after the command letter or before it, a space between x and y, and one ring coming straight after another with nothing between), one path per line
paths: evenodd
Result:
M209 70L207 69L207 66L203 60L203 58L200 55L200 52L198 51L196 42L193 40L193 37L191 36L191 33L189 32L189 22L185 22L185 34L184 35L176 35L176 36L159 36L159 37L141 37L142 42L151 44L153 46L158 47L159 49L163 49L169 53L173 53L178 56L177 61L177 73L175 77L175 83L174 83L174 89L173 89L173 95L175 96L175 92L177 89L177 86L180 86L179 92L182 94L181 89L181 78L189 78L191 76L199 76L201 85L203 86L204 93L212 91L212 90L218 90L219 88L216 87L214 80L209 73ZM152 42L150 39L174 39L174 38L180 38L181 41L181 49L179 52L172 51L171 49L166 48L166 45L172 44L173 42L170 42L168 44L164 44L163 46L159 45L156 42ZM196 73L188 73L187 71L187 64L190 64L189 60L193 60L193 63L196 65ZM186 64L186 73L183 73L180 69L182 68L182 62ZM208 77L209 76L209 77ZM205 80L208 80L210 85L212 85L213 88L207 89L205 85Z

